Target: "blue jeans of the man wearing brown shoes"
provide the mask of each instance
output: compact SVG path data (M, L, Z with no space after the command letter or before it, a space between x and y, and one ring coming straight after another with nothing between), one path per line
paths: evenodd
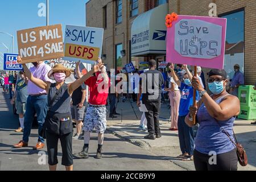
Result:
M44 139L40 136L40 133L43 129L44 120L46 119L47 113L47 95L43 96L28 96L26 113L24 117L24 132L23 132L23 141L28 142L30 137L32 123L35 117L35 114L38 116L38 142L44 143Z

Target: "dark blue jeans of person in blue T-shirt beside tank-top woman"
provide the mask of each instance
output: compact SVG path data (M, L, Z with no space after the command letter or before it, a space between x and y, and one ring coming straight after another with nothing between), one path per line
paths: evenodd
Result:
M182 154L188 153L189 155L193 155L195 148L195 138L192 127L189 127L185 123L185 116L179 116L178 119L178 130L179 130L179 142L180 142L180 150Z

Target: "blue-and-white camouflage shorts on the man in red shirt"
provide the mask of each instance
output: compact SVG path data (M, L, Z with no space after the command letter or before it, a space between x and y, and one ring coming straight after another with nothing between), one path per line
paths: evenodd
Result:
M89 105L84 118L84 131L104 133L106 130L106 106L93 107Z

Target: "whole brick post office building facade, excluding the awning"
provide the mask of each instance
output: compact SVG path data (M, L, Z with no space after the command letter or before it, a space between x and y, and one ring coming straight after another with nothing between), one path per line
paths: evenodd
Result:
M240 64L246 84L256 82L255 0L90 0L86 3L86 26L105 28L102 57L108 68L121 69L130 61L138 68L141 61L165 60L163 54L131 56L134 20L164 3L168 3L169 13L209 16L214 9L217 16L227 18L225 70L232 78L233 65Z

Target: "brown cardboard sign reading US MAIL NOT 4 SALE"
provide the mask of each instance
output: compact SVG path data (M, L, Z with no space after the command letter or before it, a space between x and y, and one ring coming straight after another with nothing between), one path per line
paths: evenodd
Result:
M64 57L61 24L20 30L17 39L22 63Z

